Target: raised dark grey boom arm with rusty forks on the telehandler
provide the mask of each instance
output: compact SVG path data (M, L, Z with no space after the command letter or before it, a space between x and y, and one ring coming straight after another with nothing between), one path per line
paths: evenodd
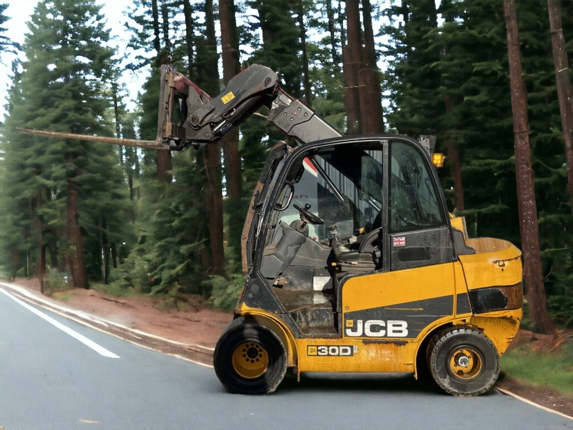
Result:
M262 106L270 110L267 117L270 123L301 143L342 136L303 101L286 93L277 83L275 72L259 64L253 64L234 76L225 91L214 98L170 65L163 65L155 140L19 130L60 138L180 151L188 146L200 148L218 142L231 128L238 127Z

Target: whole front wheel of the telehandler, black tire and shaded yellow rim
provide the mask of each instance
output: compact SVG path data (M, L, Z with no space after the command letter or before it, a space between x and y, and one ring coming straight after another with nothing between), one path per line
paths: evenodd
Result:
M241 324L219 338L213 365L232 393L273 392L286 373L286 351L278 336L257 324Z

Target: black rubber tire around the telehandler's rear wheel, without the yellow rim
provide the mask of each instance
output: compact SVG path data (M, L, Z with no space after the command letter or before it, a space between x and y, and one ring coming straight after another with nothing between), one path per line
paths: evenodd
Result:
M480 354L480 372L469 380L455 377L449 370L448 357L452 351L470 346ZM454 326L439 331L428 347L428 368L434 382L454 396L479 396L488 392L500 373L496 346L481 331L471 327Z

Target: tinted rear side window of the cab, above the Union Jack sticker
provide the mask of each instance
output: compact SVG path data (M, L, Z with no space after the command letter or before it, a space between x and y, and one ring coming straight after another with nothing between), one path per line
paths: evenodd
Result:
M413 144L390 142L391 232L444 225L444 214L429 169L429 163Z

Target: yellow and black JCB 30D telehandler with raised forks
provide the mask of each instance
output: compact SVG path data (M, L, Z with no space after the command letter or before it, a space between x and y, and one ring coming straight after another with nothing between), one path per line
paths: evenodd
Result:
M269 393L287 371L409 372L464 396L492 388L521 318L521 252L470 239L448 213L433 136L344 136L261 65L214 98L170 66L161 79L156 140L67 137L200 148L265 106L301 143L272 148L249 205L247 280L214 353L228 390Z

